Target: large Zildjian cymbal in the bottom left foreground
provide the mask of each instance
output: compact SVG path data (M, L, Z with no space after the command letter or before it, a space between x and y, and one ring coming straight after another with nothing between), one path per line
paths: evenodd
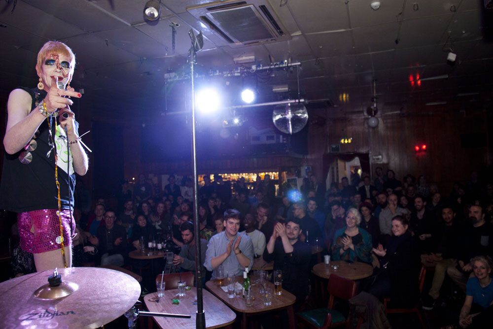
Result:
M59 269L64 282L78 288L69 296L40 299L53 270L36 272L0 283L0 328L95 329L128 311L141 294L130 275L100 267Z

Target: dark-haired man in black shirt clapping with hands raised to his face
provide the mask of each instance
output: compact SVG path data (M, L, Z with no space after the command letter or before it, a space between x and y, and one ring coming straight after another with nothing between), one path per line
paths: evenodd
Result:
M301 232L296 218L289 219L286 225L277 223L263 255L266 262L274 261L274 269L282 270L282 288L296 296L295 312L308 295L312 257L310 246L299 240Z

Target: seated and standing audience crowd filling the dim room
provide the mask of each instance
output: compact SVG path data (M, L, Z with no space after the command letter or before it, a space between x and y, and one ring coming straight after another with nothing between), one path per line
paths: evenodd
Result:
M287 182L280 185L277 196L269 175L257 177L253 189L244 178L230 182L215 175L211 181L206 175L199 191L198 240L192 179L177 182L170 175L160 190L141 174L131 185L122 184L118 209L106 207L105 199L97 200L92 214L82 201L76 204L74 266L136 265L128 253L155 240L174 251L174 270L195 272L195 243L200 241L200 266L208 279L217 277L219 266L241 275L254 258L263 257L283 271L283 288L297 297L299 308L310 293L315 247L332 260L372 264L374 273L360 289L390 297L398 307L418 303L422 264L433 265L431 288L423 291L424 309L434 308L449 277L465 294L460 327L484 328L493 319L493 184L481 181L475 171L467 185L456 183L447 195L428 185L424 175L417 180L406 175L401 182L380 167L373 179L354 174L328 189L310 174L299 190ZM22 255L14 257L14 270L29 272L29 257L17 253Z

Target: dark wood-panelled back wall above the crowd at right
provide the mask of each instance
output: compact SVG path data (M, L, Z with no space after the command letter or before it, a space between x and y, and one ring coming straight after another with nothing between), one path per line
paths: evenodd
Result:
M318 110L317 115L324 114ZM390 168L399 180L408 173L416 178L424 173L428 184L437 184L446 194L454 181L466 182L471 170L491 163L488 146L464 148L460 144L461 134L488 132L486 111L387 115L380 118L376 129L368 127L363 116L331 118L327 110L325 117L326 124L311 127L309 135L309 164L317 173L321 172L320 155L331 144L340 144L342 137L352 137L352 143L341 145L341 153L369 153L372 171L376 166ZM417 154L414 147L422 144L427 150ZM375 163L372 157L377 155L382 161Z

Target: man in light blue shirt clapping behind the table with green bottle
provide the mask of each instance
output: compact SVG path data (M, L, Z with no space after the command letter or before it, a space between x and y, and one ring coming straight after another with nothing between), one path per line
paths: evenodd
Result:
M229 209L224 213L224 231L213 235L207 245L204 266L212 271L216 279L216 269L222 265L224 274L241 275L245 267L253 265L253 244L248 235L238 234L240 213Z

